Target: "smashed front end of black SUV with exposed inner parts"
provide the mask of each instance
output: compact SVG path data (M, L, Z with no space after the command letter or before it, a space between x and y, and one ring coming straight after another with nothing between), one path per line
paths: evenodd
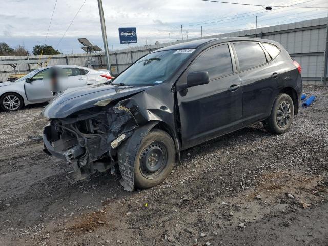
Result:
M45 151L71 163L71 174L77 179L112 168L117 163L116 148L138 127L127 107L101 106L52 119L44 128Z

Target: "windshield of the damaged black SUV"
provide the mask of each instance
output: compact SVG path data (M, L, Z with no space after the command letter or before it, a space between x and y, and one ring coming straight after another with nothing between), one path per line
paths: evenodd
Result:
M138 60L114 81L113 85L153 86L166 81L194 50L165 50Z

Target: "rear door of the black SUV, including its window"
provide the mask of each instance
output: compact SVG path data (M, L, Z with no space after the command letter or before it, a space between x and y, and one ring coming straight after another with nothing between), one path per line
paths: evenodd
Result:
M279 68L259 42L233 42L233 48L242 81L243 126L247 126L270 115Z

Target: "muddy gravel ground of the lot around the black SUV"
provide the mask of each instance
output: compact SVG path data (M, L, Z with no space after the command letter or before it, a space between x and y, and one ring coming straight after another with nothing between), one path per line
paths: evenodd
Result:
M328 245L328 88L304 92L287 133L219 137L134 192L43 153L44 105L0 112L0 245Z

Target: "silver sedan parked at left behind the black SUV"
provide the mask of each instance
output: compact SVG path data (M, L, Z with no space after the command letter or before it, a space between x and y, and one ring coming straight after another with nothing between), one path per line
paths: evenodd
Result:
M12 82L0 83L0 107L5 111L16 111L28 104L51 101L53 94L44 85L43 76L51 66L33 70ZM107 70L97 71L74 65L58 65L67 73L66 88L81 87L111 79Z

